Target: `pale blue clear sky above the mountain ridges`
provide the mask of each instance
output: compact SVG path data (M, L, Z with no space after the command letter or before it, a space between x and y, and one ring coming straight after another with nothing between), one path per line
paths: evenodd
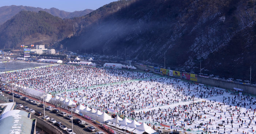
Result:
M84 9L97 9L105 4L117 0L1 0L0 7L6 5L23 5L40 8L58 8L60 10L74 12Z

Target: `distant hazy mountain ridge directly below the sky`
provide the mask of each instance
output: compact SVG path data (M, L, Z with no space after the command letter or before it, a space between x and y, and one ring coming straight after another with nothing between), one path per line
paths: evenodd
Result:
M22 5L4 6L4 7L0 7L0 25L3 24L5 21L11 19L11 17L13 17L14 15L16 15L17 13L23 10L34 11L34 12L45 11L47 13L50 13L53 16L57 16L62 19L85 16L88 13L93 11L92 9L85 9L84 11L66 12L63 10L59 10L57 8L43 9L43 8L27 7Z

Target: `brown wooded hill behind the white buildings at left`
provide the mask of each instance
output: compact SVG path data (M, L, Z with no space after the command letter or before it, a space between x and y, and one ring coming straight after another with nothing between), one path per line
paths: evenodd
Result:
M20 11L0 26L0 46L19 48L20 45L46 45L49 47L72 36L75 22L61 19L47 12Z

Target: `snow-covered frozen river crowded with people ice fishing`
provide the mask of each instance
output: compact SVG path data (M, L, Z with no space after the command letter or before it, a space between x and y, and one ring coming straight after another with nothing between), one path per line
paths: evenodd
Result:
M74 65L7 75L10 80L18 78L16 82L22 85L48 89L52 93L57 91L59 96L97 109L117 111L155 127L160 123L172 129L182 126L186 131L193 129L187 131L193 134L201 134L206 129L212 133L243 134L244 131L252 134L256 127L255 97L239 96L176 78Z

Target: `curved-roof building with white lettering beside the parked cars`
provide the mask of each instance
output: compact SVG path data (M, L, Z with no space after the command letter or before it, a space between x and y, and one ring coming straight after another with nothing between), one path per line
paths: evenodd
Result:
M15 102L0 103L1 134L36 134L36 119L30 119L31 113L13 110Z

